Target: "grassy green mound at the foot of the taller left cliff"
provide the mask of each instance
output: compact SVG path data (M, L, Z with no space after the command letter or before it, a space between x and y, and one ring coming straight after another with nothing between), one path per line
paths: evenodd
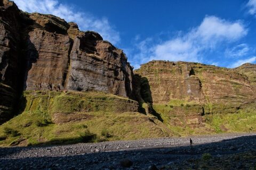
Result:
M0 145L39 145L165 137L138 103L103 92L26 91L24 111L0 126Z

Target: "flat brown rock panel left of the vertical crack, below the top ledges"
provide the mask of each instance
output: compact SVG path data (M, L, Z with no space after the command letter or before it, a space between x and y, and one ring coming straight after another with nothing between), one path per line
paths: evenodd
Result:
M63 90L71 40L42 29L28 33L26 90Z

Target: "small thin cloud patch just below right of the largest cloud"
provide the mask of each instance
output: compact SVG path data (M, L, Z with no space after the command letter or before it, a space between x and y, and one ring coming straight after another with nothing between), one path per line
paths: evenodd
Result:
M249 53L250 48L246 44L239 44L231 49L226 49L227 57L242 57Z

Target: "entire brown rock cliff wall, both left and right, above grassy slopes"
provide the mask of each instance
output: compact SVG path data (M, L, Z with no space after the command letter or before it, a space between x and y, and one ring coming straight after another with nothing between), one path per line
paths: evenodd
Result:
M122 106L129 112L193 127L204 126L205 114L255 106L255 64L226 69L152 61L134 72L123 51L99 33L0 1L0 124L19 113L24 91L102 91L137 100L139 108L136 101Z

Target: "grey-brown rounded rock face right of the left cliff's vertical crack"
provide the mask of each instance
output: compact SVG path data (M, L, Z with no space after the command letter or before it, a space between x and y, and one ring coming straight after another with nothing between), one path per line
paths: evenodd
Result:
M74 39L70 63L67 89L131 96L132 68L125 54L98 33L84 32Z

